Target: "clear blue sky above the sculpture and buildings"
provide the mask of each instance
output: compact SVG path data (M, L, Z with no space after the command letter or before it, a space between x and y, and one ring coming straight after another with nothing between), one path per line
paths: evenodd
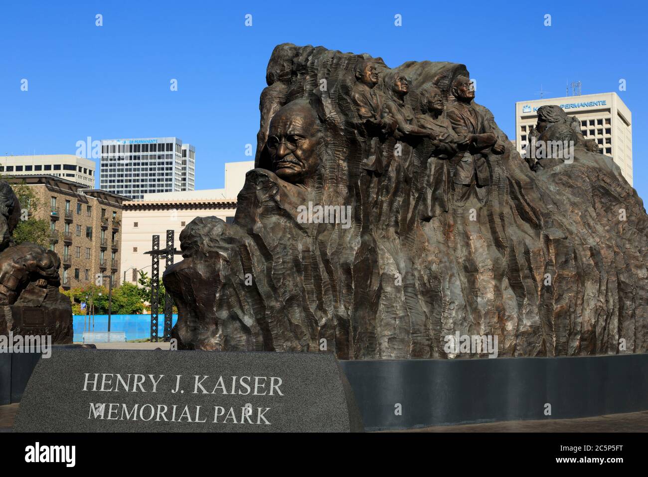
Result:
M615 91L632 112L634 187L648 197L647 10L622 1L4 1L0 154L74 154L87 136L177 136L196 147L196 188L222 187L224 163L249 160L245 145L256 143L272 49L291 42L391 67L466 64L477 101L509 137L515 102L538 98L540 86L546 97L564 96L572 80L583 94Z

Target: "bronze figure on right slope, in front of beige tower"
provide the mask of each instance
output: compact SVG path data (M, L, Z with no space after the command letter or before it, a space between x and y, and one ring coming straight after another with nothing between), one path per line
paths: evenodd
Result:
M557 145L554 149L553 145ZM579 121L567 115L557 104L538 108L537 125L529 131L524 158L533 171L540 171L564 162L569 147L581 147L598 153L596 141L585 139ZM573 152L573 150L572 150Z

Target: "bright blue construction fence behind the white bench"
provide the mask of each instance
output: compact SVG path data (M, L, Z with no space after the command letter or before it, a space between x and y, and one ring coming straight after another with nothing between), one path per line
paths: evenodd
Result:
M75 343L83 341L84 319L86 330L88 330L86 315L74 315ZM174 314L172 323L175 325L178 315ZM108 331L108 315L95 315L95 327L92 328L93 320L90 317L90 329L88 331ZM111 315L110 331L126 332L126 339L145 339L151 337L151 315ZM164 336L164 313L157 315L157 336Z

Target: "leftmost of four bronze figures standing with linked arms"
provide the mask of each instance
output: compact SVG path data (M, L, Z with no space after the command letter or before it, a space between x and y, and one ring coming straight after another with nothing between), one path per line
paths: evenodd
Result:
M351 99L356 108L356 125L363 131L367 160L364 169L382 173L384 164L380 146L389 134L396 129L396 121L389 117L384 97L376 89L379 76L375 62L360 60L354 68L356 82Z

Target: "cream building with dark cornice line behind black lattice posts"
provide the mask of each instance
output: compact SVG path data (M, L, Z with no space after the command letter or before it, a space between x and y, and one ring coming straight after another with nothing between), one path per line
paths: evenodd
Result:
M159 235L160 249L166 247L167 230L174 230L174 245L179 250L179 234L196 217L214 215L231 222L237 208L237 195L254 161L228 162L222 189L147 193L141 201L124 202L122 230L122 280L137 282L138 271L151 275L152 237ZM181 256L174 257L174 262ZM165 270L160 261L160 277Z

